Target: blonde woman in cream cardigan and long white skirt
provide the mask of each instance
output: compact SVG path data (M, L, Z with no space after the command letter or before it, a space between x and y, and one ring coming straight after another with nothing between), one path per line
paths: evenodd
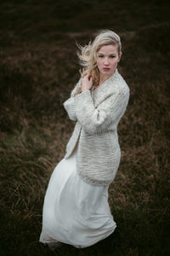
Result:
M119 36L100 32L80 47L82 78L64 102L77 121L65 158L48 183L40 241L89 247L116 229L108 204L108 187L116 176L121 152L117 125L127 108L129 89L116 67L121 59Z

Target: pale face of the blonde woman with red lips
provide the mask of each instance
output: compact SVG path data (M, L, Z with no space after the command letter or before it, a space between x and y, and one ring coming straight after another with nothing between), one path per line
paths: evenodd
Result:
M100 78L110 78L115 73L117 62L120 61L120 58L116 44L102 46L97 52L97 66Z

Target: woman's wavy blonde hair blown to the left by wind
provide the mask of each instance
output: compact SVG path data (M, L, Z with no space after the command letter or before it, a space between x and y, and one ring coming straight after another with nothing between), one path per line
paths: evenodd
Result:
M80 52L77 52L77 55L82 66L82 70L80 70L81 76L83 78L86 74L91 75L94 81L94 86L99 84L99 69L96 62L97 53L102 46L109 44L117 45L118 55L122 55L121 39L116 32L112 32L111 30L103 30L99 32L96 38L94 38L94 41L89 42L89 44L84 47L77 44L77 47L80 49ZM75 95L81 92L81 88L78 88Z

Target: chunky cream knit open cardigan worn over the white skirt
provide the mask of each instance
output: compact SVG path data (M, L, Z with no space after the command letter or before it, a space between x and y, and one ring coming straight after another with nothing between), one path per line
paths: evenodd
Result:
M117 125L127 108L129 88L116 72L95 90L74 96L81 79L64 102L71 120L77 121L66 146L65 159L77 147L77 172L90 184L109 185L121 159Z

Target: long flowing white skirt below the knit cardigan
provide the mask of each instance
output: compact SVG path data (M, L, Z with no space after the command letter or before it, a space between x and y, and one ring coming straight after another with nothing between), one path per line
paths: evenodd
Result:
M77 174L77 150L55 167L42 211L40 241L89 247L116 229L108 204L108 186L85 183Z

